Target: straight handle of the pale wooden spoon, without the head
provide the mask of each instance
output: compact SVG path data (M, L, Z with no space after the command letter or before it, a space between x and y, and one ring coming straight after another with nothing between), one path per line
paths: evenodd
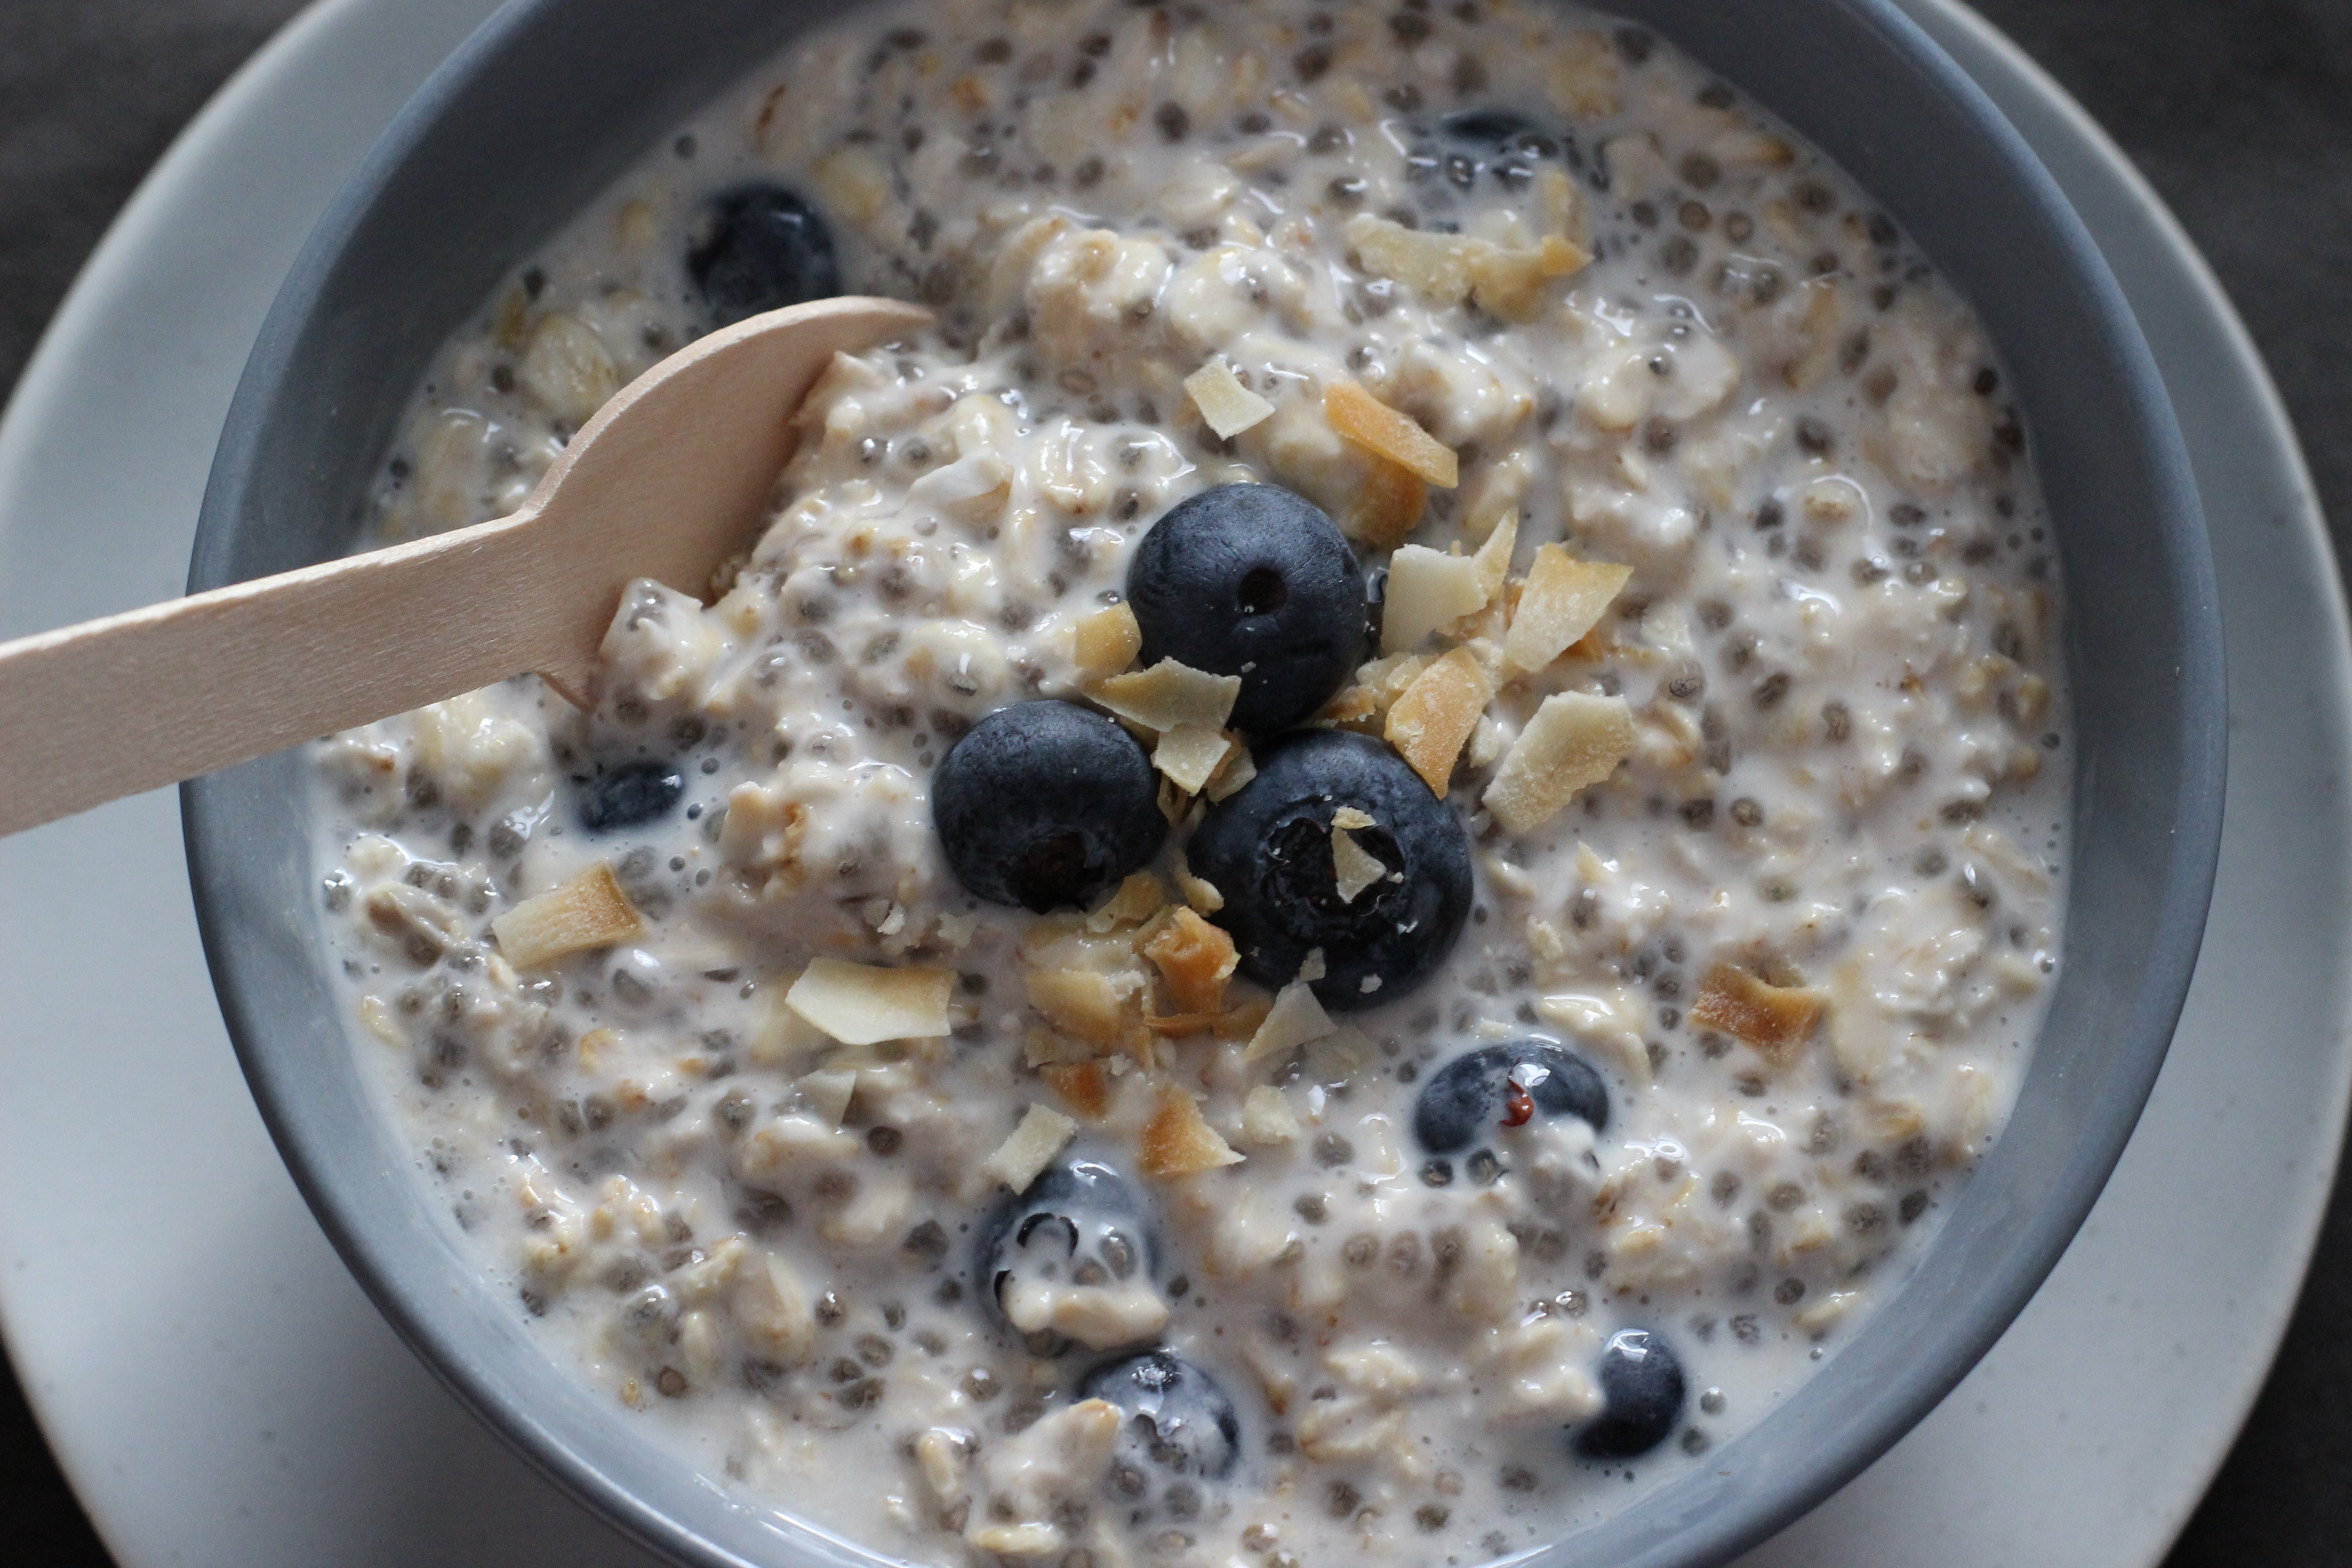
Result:
M529 520L0 644L0 835L534 668L579 609Z

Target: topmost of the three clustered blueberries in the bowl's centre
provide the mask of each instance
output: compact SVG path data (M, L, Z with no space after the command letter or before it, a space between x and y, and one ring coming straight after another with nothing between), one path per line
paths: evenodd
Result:
M1178 501L1127 567L1143 663L1240 675L1232 726L1289 729L1364 658L1364 578L1338 524L1272 484Z

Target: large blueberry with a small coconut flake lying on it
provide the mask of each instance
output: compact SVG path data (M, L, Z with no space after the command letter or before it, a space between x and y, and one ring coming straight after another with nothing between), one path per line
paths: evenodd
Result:
M1390 867L1341 900L1331 816L1355 806L1374 825L1350 837ZM1322 950L1315 994L1359 1009L1414 990L1470 917L1470 835L1406 762L1345 729L1301 729L1258 748L1258 776L1209 806L1185 856L1225 896L1216 914L1261 985L1298 976Z

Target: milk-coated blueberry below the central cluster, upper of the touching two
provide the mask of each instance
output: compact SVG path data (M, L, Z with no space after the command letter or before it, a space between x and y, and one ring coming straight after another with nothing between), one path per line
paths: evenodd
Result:
M1117 1171L1091 1159L1049 1166L1028 1192L997 1211L981 1237L988 1300L1016 1331L1054 1335L1044 1349L1063 1345L1035 1300L1042 1288L1117 1288L1124 1281L1150 1281L1155 1269L1141 1194Z

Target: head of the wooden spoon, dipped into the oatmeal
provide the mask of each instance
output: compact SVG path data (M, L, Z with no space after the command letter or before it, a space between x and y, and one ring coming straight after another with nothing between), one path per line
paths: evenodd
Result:
M515 515L562 604L541 675L586 703L621 590L701 595L755 536L797 440L793 414L837 353L931 322L894 299L818 299L696 339L597 409Z

